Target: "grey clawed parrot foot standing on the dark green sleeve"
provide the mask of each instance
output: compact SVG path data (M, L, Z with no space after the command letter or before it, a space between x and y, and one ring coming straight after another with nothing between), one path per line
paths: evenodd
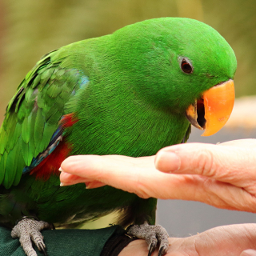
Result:
M54 226L48 222L37 221L34 218L25 217L14 226L10 235L12 238L19 238L19 242L27 256L38 256L33 249L31 239L38 247L38 250L42 251L42 253L47 256L46 246L40 231L52 228L54 228Z

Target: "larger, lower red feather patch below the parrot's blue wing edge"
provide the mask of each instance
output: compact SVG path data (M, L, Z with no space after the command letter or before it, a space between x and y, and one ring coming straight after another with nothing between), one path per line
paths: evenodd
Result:
M58 146L49 154L38 166L35 166L33 170L31 170L30 175L35 175L35 178L44 179L45 181L50 178L52 175L58 175L59 167L62 162L70 155L70 151L72 147L65 142L63 138L62 142L58 143Z

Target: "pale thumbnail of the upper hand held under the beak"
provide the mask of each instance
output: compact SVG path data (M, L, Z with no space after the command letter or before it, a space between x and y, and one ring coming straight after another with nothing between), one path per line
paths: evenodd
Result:
M166 173L172 173L179 170L181 159L177 154L170 151L159 151L154 162L155 167Z

